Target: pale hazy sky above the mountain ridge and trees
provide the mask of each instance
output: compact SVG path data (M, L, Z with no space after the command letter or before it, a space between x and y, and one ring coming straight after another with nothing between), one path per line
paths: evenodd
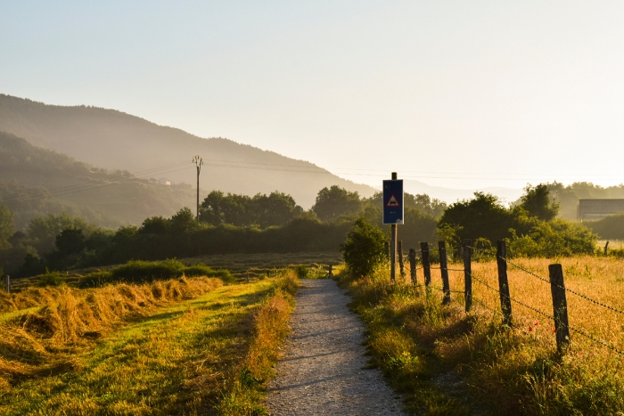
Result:
M0 0L0 93L361 183L620 184L624 2Z

